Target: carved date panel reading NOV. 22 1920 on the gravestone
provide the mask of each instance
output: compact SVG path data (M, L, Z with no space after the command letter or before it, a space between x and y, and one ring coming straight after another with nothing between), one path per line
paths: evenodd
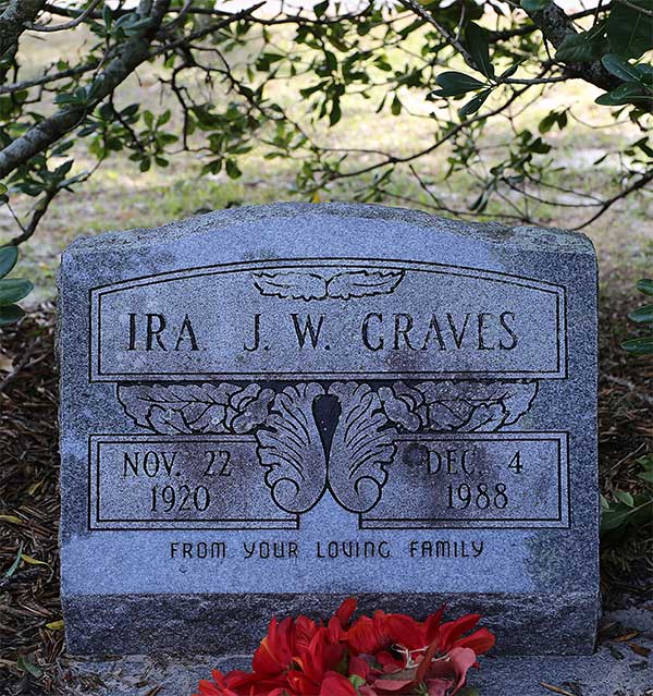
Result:
M250 436L93 436L91 529L288 529Z

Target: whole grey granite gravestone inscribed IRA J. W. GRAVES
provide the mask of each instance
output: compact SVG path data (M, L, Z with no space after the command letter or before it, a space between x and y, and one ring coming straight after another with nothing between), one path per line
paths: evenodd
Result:
M587 654L581 234L273 205L83 239L60 276L69 649L251 649L272 615L480 611Z

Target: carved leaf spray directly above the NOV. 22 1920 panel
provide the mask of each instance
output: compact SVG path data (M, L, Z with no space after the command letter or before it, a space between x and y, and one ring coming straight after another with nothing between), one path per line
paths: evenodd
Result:
M256 383L120 384L118 399L135 423L163 435L249 432L274 398Z

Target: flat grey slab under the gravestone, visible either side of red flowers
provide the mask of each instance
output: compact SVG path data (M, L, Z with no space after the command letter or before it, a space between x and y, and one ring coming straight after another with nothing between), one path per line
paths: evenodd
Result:
M617 611L603 618L605 626L616 624L623 634L638 631L631 644L653 650L653 607ZM97 696L143 696L160 687L157 696L190 696L210 670L248 670L250 655L197 655L185 657L133 656L113 660L72 660L73 685L65 694L86 693L79 681L99 681ZM481 669L469 674L469 686L480 696L551 696L562 688L572 696L653 696L653 659L638 655L624 643L606 640L596 652L582 657L493 657L481 658Z

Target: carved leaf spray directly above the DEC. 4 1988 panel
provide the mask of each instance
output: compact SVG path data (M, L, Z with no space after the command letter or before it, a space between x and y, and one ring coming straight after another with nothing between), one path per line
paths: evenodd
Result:
M422 395L423 403L415 391ZM415 419L401 411L396 400L404 402L409 414L419 417L421 426L429 430L492 432L517 423L529 411L538 383L438 381L421 382L411 389L399 382L393 386L393 393L394 400L390 395L384 400L385 412L408 430L419 425L416 427ZM396 417L397 413L403 420Z

